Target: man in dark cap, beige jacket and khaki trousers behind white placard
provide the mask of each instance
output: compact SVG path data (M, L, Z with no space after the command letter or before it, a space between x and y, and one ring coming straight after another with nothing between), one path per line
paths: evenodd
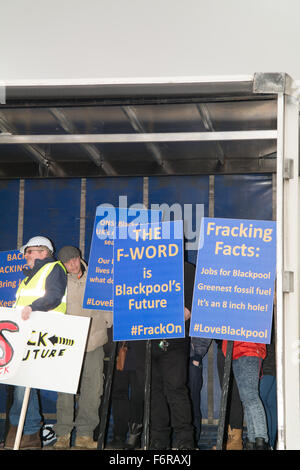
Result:
M79 385L74 420L74 395L58 393L56 404L57 422L54 426L56 449L70 447L71 432L76 428L75 448L96 449L94 430L99 423L99 406L103 392L103 345L108 341L107 328L112 326L112 312L89 310L82 307L87 279L87 265L80 251L73 246L64 246L58 259L68 272L67 314L91 318L86 352Z

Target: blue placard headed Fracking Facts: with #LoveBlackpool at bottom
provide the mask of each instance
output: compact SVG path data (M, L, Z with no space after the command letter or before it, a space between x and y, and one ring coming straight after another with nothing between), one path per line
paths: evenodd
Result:
M270 343L276 223L204 218L190 336Z

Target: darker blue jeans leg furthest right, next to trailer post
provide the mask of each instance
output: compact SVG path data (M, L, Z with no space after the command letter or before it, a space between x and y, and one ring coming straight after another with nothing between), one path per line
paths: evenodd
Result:
M267 415L269 444L274 449L277 437L276 377L263 375L260 379L259 391Z

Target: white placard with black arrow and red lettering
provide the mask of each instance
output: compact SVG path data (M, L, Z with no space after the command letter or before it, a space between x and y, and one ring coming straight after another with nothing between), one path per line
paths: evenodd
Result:
M90 318L32 312L23 321L18 309L0 308L0 327L8 321L19 329L0 332L0 351L8 341L14 350L10 363L0 368L0 382L77 393Z

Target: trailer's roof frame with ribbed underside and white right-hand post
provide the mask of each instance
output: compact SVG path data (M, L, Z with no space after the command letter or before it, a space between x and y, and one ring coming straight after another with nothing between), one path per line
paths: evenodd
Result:
M150 175L274 175L278 449L300 449L299 88L292 78L0 82L0 131L1 179L139 175L146 204Z

